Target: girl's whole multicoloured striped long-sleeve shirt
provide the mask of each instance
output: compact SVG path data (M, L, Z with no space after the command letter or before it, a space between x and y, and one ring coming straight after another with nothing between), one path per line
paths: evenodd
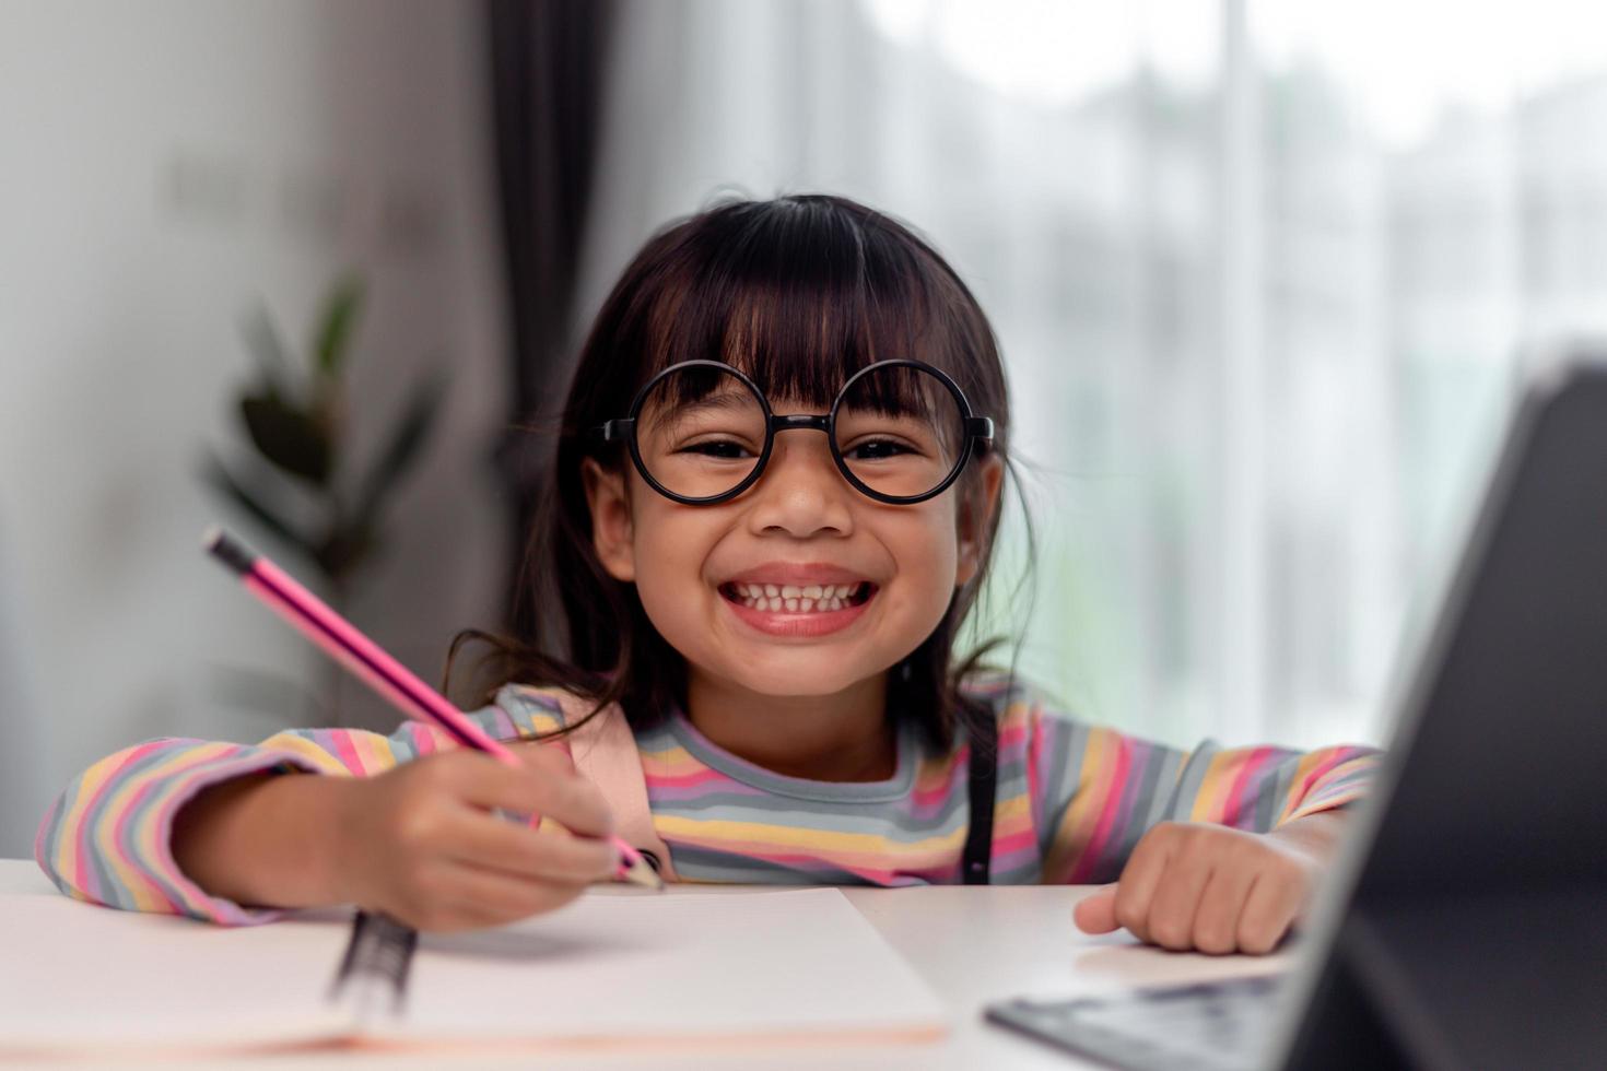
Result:
M1001 678L967 687L1000 724L992 875L998 883L1112 882L1162 821L1265 832L1350 803L1379 753L1329 747L1168 748L1048 710ZM562 726L556 692L506 686L469 715L500 740ZM174 816L201 790L251 772L371 776L455 747L405 723L389 737L294 729L259 745L166 737L79 774L47 812L35 857L69 896L220 923L270 909L209 896L174 861ZM958 883L969 824L967 745L947 753L898 734L893 776L877 782L786 777L705 739L680 713L636 732L652 825L677 875L693 882Z

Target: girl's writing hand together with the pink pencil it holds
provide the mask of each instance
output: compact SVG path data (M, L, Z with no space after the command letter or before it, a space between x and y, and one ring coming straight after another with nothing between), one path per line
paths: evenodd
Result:
M239 575L247 591L358 679L463 748L374 777L320 785L320 814L333 819L318 830L318 849L312 853L321 864L296 890L286 890L291 896L302 902L333 898L382 910L415 928L453 930L551 910L587 883L607 877L662 888L644 857L614 835L607 803L574 772L567 756L543 747L514 755L273 562L219 528L206 533L204 546ZM272 780L284 784L257 780L231 790L252 796L238 801L236 814L249 812L247 804L265 795L284 795L301 779ZM230 795L223 803L236 800ZM199 851L196 843L219 845L217 827L227 825L206 822L207 811L202 806L191 816L190 829L177 838L202 869L207 854L217 853ZM503 814L545 814L574 835L537 832ZM227 848L219 845L219 851Z

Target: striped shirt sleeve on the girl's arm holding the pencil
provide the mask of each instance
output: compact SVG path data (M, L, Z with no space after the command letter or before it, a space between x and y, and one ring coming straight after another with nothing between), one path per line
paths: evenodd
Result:
M498 740L530 739L559 724L551 707L505 689L469 711ZM172 853L174 817L196 795L235 777L310 772L370 777L432 751L458 747L445 732L405 723L391 735L362 729L289 729L262 743L161 737L124 748L74 777L45 812L34 840L40 869L67 896L222 925L278 918L275 909L209 896Z

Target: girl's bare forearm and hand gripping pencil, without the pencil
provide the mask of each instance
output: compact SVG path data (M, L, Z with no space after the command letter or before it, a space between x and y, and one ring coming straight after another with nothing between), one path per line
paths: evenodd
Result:
M174 857L239 904L357 904L416 930L505 925L567 904L619 865L598 788L558 748L521 748L521 759L452 750L373 777L236 777L178 812ZM579 837L498 811L542 811Z

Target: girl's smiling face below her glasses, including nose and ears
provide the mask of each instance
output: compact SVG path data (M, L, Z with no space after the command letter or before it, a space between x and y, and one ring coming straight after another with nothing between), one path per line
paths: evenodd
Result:
M969 469L935 498L893 506L844 480L824 435L794 430L776 435L757 483L715 506L664 498L630 462L587 459L583 475L599 560L636 586L688 673L804 697L884 673L943 620L988 531L987 515L961 507L964 491L980 480L990 512L1003 474L996 458Z

